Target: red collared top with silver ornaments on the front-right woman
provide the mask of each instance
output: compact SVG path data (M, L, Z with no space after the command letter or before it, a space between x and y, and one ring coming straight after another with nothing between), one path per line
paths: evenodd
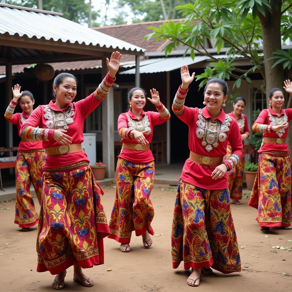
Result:
M189 149L197 154L209 157L226 155L227 142L232 147L232 154L224 161L232 169L244 154L239 126L236 119L225 114L221 109L219 116L212 119L207 107L186 107L187 91L180 87L173 100L172 109L177 117L189 126ZM224 177L213 180L211 173L216 166L207 166L187 159L180 179L207 190L228 188L228 172Z

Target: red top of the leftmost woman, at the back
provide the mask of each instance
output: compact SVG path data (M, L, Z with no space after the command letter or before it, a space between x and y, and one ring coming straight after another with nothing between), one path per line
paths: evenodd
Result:
M13 114L14 109L17 105L17 102L11 100L9 103L6 112L4 114L5 119L17 127L17 131L19 133L22 124L28 119L29 115L27 115L24 111L22 113ZM42 149L43 143L39 141L20 141L18 145L18 150L28 151L35 149Z

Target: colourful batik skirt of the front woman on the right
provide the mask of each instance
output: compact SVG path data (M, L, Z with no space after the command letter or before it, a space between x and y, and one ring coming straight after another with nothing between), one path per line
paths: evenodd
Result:
M174 269L183 261L185 270L212 267L224 274L241 271L228 189L205 190L180 180L171 255Z

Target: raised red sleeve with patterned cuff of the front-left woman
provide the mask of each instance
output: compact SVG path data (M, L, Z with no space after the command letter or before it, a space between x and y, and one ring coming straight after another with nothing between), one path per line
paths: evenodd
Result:
M76 107L79 109L84 118L87 117L88 114L90 114L100 104L100 102L102 102L102 100L104 100L104 98L107 96L107 93L112 88L115 80L116 77L111 79L107 74L98 88L96 88L96 90L91 93L91 95L75 102Z

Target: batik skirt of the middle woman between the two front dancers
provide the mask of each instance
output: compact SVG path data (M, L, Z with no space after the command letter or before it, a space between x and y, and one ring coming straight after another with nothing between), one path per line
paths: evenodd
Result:
M154 209L150 193L154 183L154 161L132 163L119 158L116 169L117 189L111 220L109 238L129 243L132 231L136 236L145 231L154 234L151 222Z

